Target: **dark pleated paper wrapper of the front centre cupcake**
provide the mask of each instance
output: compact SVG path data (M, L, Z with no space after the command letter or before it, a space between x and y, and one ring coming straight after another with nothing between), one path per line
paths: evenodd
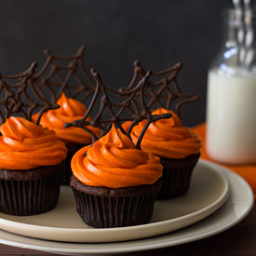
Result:
M121 227L149 222L155 195L101 197L74 190L76 210L82 220L97 228Z

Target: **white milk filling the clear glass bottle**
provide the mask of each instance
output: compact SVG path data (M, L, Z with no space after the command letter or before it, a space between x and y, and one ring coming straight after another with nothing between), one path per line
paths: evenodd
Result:
M222 163L256 163L256 72L209 71L207 152Z

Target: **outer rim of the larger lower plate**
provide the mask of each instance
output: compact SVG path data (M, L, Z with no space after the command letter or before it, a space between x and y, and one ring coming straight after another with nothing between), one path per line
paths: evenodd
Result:
M158 241L156 244L145 244L147 242L147 240L149 239L153 239L154 237L151 238L145 238L145 239L140 239L138 240L138 244L135 245L129 245L128 247L117 247L117 248L111 248L111 249L85 249L85 248L77 248L77 249L63 249L61 248L61 246L55 246L55 245L50 245L52 243L56 243L54 241L46 241L47 242L47 247L45 246L40 246L40 245L34 245L32 244L31 241L26 241L26 242L20 242L20 241L13 241L13 240L7 240L4 238L0 237L0 243L8 245L8 246L13 246L13 247L19 247L19 248L23 248L23 249L35 249L35 250L39 250L39 251L47 251L47 252L59 252L59 253L75 253L76 255L78 254L85 254L85 253L98 253L98 254L102 254L102 253L122 253L122 252L132 252L132 251L139 251L139 250L147 250L147 249L160 249L160 248L165 248L165 247L170 247L170 246L174 246L174 245L180 245L180 244L184 244L184 243L188 243L188 242L192 242L198 239L202 239L202 238L206 238L209 236L214 236L216 234L221 233L224 230L227 230L229 228L231 228L232 226L236 225L237 222L242 221L249 213L249 211L252 209L253 207L253 203L254 203L254 196L252 193L252 190L249 187L248 182L246 182L242 177L240 177L239 175L237 175L235 172L233 172L232 170L228 169L228 168L224 168L218 164L209 162L207 160L200 160L201 162L212 166L213 168L219 168L219 171L225 173L227 175L226 179L229 181L229 177L228 174L230 173L231 176L233 176L236 181L242 182L244 189L247 191L247 194L249 196L249 203L247 205L247 209L245 209L238 217L236 216L235 219L232 219L231 221L226 222L225 225L222 225L220 227L214 228L211 227L211 229L208 232L204 232L204 233L200 233L194 236L190 236L190 237L185 237L185 238L179 238L178 240L176 239L176 241L165 241L163 240L164 238L168 237L168 234L163 235L163 236L159 236L162 237L162 240ZM232 191L231 191L232 192ZM230 198L228 198L227 202L231 200ZM227 214L227 213L225 213ZM209 217L210 218L210 217ZM205 224L207 225L207 223ZM196 223L195 223L196 226ZM189 227L190 229L194 229L194 227ZM8 233L6 231L2 231L4 234ZM177 231L179 233L179 231ZM193 231L191 231L193 233ZM19 235L14 235L12 234L12 236L17 236L19 238ZM31 237L26 237L28 239L32 239L33 241L37 240L36 238L31 238ZM122 244L126 244L129 241L124 241L121 242ZM61 243L63 242L58 242L58 244L61 245ZM71 244L74 245L75 243L65 243L65 244ZM91 243L82 243L82 245L99 245L102 243L97 243L97 244L91 244ZM103 244L109 244L109 243L103 243ZM114 242L112 243L114 246L115 244L120 244L119 242ZM96 246L97 247L97 246ZM47 249L46 249L47 248Z

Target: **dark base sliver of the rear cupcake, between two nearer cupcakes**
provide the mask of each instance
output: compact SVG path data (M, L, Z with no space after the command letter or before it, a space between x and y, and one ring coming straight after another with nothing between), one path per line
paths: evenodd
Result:
M87 145L85 144L75 144L75 143L66 143L66 147L68 149L68 154L66 158L66 164L65 168L62 170L62 182L63 185L69 185L70 178L72 175L72 169L71 169L71 159L73 155L82 147L85 147Z

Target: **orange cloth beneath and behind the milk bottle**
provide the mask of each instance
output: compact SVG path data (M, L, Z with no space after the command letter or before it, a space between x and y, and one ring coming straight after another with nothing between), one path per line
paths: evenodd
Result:
M226 167L235 171L238 175L240 175L249 183L254 193L254 199L256 200L256 166L255 165L243 165L243 166L224 165L210 159L209 155L207 155L206 153L206 139L205 139L206 124L198 125L195 128L193 128L193 130L202 141L201 158L210 160L211 162L215 162L217 164L222 165L223 167Z

